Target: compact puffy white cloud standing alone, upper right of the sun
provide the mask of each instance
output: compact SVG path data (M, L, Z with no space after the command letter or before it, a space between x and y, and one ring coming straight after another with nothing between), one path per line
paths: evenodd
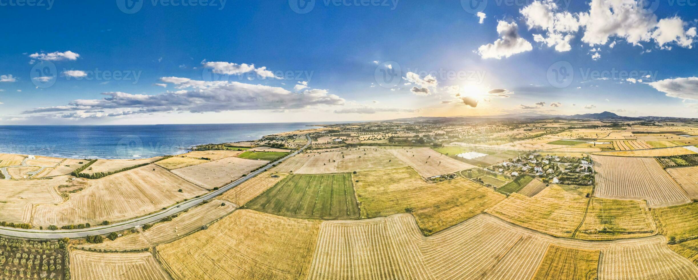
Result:
M481 45L477 49L477 54L483 59L502 59L511 57L513 54L533 50L530 43L519 36L519 27L515 22L505 22L500 20L497 24L497 33L500 38L492 44Z

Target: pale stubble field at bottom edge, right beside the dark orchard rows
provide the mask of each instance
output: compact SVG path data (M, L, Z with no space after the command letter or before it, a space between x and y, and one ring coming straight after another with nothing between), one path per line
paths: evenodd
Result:
M168 280L150 252L96 253L70 251L70 274L75 280Z

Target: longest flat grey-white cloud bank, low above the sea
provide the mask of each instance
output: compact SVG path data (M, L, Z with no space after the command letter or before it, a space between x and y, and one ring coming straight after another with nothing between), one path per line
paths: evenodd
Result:
M293 93L281 87L241 82L205 82L188 78L166 77L181 91L157 95L103 93L102 99L78 99L65 106L36 108L24 114L61 112L54 117L115 117L151 112L223 112L232 110L285 110L320 105L344 105L345 100L324 89Z

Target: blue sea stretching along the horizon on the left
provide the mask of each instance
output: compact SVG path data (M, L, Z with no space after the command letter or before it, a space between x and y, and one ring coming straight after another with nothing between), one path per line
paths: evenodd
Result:
M193 145L255 140L311 123L0 126L0 152L75 159L140 159Z

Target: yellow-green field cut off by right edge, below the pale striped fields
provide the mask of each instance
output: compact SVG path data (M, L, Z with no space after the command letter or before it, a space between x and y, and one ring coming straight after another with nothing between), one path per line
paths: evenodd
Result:
M660 233L676 241L698 238L698 203L652 209L658 219Z

